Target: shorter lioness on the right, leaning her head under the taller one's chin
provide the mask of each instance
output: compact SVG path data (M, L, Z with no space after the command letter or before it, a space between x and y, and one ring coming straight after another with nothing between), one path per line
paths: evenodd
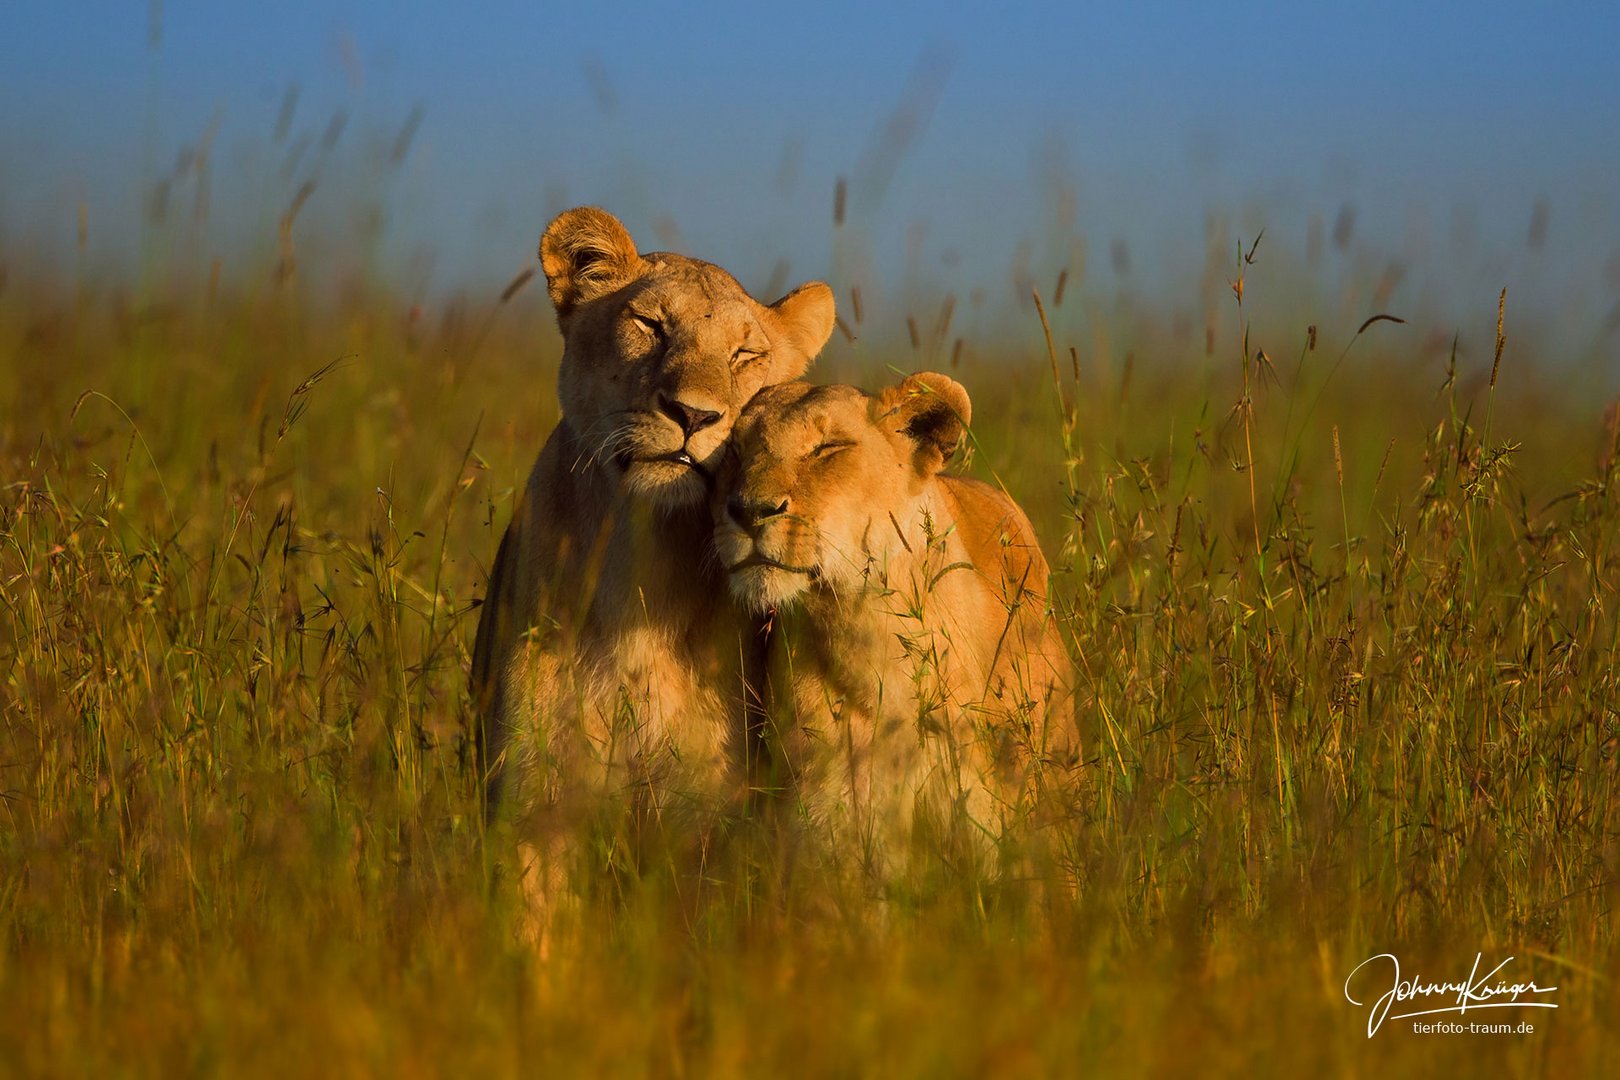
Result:
M933 372L876 397L768 387L711 504L732 596L773 619L766 782L876 873L919 811L983 852L1030 766L1072 746L1029 518L941 473L969 410Z

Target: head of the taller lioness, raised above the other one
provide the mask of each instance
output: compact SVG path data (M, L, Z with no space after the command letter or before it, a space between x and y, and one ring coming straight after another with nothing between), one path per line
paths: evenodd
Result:
M833 290L761 304L718 266L640 254L612 214L578 207L539 238L564 353L559 397L582 444L637 497L703 505L748 398L795 379L833 332Z

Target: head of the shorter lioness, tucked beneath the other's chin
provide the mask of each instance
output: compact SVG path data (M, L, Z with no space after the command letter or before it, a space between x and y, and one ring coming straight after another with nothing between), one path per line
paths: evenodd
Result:
M932 371L872 397L789 382L763 390L732 432L711 504L737 601L778 607L812 585L860 589L906 541L928 481L969 423L967 392Z

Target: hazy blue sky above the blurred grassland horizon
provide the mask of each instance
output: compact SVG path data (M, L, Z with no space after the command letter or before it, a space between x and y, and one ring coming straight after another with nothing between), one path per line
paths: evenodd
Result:
M1349 204L1367 259L1432 262L1437 303L1468 303L1520 272L1542 199L1547 240L1524 293L1558 304L1575 290L1601 314L1620 290L1614 5L486 3L473 15L170 0L156 21L154 47L141 3L0 15L8 246L71 257L83 204L91 262L128 262L141 191L212 126L193 249L248 259L314 180L309 243L358 248L408 288L499 283L533 257L551 212L598 202L643 246L679 243L753 287L786 259L794 279L927 279L1000 298L1009 266L1050 280L1079 236L1089 280L1184 291L1212 212L1233 238L1264 225L1294 253L1312 219L1330 227ZM885 157L880 133L909 86L914 138ZM296 107L275 142L290 87ZM416 107L410 154L387 165ZM322 155L340 110L342 138ZM842 236L839 176L850 178ZM175 214L194 210L194 193L177 186L173 199ZM1061 236L1059 206L1072 207ZM364 243L339 243L355 230ZM1116 244L1124 269L1108 257Z

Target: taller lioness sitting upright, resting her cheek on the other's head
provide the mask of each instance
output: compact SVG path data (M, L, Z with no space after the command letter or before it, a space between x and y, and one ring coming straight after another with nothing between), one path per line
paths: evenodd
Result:
M595 207L551 222L539 261L562 418L478 620L488 801L525 814L635 789L659 816L713 808L742 785L750 635L714 563L710 489L742 406L826 343L833 293L761 304L716 266L640 254Z

